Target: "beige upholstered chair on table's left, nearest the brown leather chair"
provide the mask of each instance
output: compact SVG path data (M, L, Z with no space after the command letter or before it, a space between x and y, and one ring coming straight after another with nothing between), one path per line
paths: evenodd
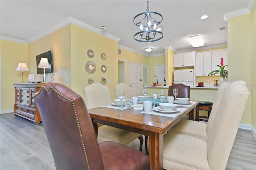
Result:
M84 101L88 109L111 104L111 96L108 86L94 82L83 88ZM106 140L127 145L138 138L140 140L140 151L142 150L143 137L141 134L114 128L107 125L98 125L98 142Z

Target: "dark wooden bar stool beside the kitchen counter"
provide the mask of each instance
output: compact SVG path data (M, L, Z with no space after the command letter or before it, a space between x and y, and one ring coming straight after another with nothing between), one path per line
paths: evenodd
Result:
M208 122L208 118L210 117L210 113L212 111L212 105L213 102L208 102L208 101L200 101L196 105L196 117L195 121L203 121L203 122ZM199 111L204 110L208 112L208 116L199 116Z

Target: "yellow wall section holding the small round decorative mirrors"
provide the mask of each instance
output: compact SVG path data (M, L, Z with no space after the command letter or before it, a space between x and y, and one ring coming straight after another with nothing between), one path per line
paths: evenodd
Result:
M118 84L118 42L106 38L80 26L71 24L71 61L72 61L72 90L84 96L83 87L88 86L88 79L93 78L94 82L101 83L101 78L105 77L110 90L112 100L114 100L113 87ZM94 57L87 56L87 50L94 51ZM101 59L101 54L106 54L106 60ZM96 64L96 72L89 74L86 72L86 62L93 61ZM105 65L107 71L103 73L101 66ZM108 83L111 80L111 84Z

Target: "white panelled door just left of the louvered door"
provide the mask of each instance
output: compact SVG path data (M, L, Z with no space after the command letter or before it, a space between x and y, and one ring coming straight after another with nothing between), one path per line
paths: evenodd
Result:
M129 62L129 84L132 96L140 94L140 64Z

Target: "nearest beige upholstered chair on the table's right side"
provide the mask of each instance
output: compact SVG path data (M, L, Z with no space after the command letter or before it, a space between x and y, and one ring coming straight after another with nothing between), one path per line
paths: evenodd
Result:
M165 134L164 169L224 170L249 95L244 81L224 90L212 127L206 129L207 141L186 134Z

